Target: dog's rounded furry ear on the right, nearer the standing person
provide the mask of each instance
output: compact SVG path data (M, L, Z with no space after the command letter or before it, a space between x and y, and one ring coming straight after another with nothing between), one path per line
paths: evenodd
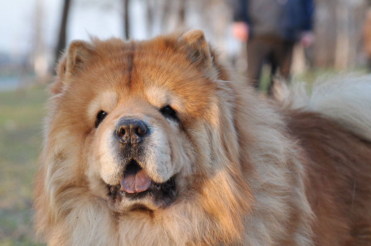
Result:
M187 31L178 39L178 43L192 63L212 66L213 59L203 31L199 29Z

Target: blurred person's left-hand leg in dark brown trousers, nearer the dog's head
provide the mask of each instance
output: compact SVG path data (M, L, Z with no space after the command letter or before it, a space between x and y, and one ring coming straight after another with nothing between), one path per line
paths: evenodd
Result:
M263 61L270 51L265 39L252 38L247 42L247 79L258 90Z

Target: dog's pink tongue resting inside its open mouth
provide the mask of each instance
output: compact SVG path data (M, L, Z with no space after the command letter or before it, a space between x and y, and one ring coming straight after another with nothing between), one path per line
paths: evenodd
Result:
M120 184L125 192L138 193L147 190L151 185L151 180L143 169L131 168L122 176Z

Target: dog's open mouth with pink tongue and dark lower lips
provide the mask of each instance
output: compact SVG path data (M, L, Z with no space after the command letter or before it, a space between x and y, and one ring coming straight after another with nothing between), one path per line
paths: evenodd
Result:
M175 198L175 182L171 177L164 183L155 183L134 159L130 160L120 183L109 186L109 194L115 202L150 200L157 207L167 207Z

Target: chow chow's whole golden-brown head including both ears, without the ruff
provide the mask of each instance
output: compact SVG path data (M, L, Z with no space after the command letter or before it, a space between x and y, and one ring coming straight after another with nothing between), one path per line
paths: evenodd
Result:
M72 121L64 125L83 142L73 151L89 189L112 210L164 209L201 182L197 174L216 168L210 134L220 125L220 95L212 69L197 31L175 43L70 45L53 88L63 97L64 116L56 117Z

